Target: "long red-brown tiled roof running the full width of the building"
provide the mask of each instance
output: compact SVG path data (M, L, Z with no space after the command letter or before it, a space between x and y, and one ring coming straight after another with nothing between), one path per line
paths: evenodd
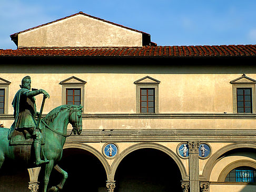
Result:
M0 49L0 56L214 57L256 56L256 45Z

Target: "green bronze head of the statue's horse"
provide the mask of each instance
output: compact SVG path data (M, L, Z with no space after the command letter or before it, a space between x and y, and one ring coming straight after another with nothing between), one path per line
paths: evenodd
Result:
M73 133L77 133L78 135L82 132L82 108L83 106L74 107L71 110L69 117L69 122L73 127Z

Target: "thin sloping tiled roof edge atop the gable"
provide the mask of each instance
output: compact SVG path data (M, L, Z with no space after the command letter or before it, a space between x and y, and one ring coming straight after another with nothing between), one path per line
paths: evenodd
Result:
M133 28L130 28L130 27L125 27L125 26L123 26L123 25L119 25L119 24L116 24L116 23L113 23L113 22L110 22L110 21L106 21L106 20L101 19L101 18L99 18L99 17L94 17L94 16L92 16L92 15L88 15L88 14L85 14L85 13L83 13L83 12L78 12L78 13L76 13L76 14L73 14L73 15L70 15L70 16L66 16L66 17L57 19L57 20L55 20L55 21L53 21L53 22L49 22L49 23L46 23L46 24L43 24L43 25L38 25L38 26L36 26L36 27L32 27L32 28L26 29L26 30L21 31L21 32L18 32L18 33L14 33L14 34L12 34L12 35L10 35L10 36L11 36L11 38L15 38L15 36L17 36L17 35L20 34L20 33L24 33L24 32L27 32L27 31L31 31L32 29L36 29L36 28L38 28L38 27L42 27L42 26L49 25L49 24L52 24L52 23L55 23L55 22L58 22L58 21L62 21L63 19L70 18L70 17L76 16L76 15L84 15L84 16L87 16L87 17L91 17L91 18L100 20L100 21L102 21L102 22L106 22L106 23L109 23L109 24L112 24L112 25L116 25L116 26L119 26L119 27L123 27L123 28L129 29L129 30L131 30L131 31L135 31L135 32L147 34L147 33L145 33L145 32L138 31L138 30L133 29Z

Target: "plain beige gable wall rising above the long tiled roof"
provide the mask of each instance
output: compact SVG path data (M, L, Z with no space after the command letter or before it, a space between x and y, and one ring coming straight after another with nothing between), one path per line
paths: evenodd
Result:
M76 15L18 34L18 48L141 46L141 33L84 15Z

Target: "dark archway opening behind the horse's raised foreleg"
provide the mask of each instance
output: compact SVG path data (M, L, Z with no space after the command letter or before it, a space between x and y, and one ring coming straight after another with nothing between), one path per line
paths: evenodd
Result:
M106 191L106 171L101 161L92 153L78 148L64 149L58 165L68 174L63 192ZM61 174L53 169L49 187L56 186L60 181Z

